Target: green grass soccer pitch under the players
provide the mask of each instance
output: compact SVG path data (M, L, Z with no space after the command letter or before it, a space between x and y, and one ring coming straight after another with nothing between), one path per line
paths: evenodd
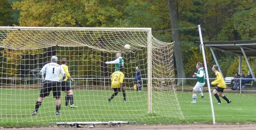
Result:
M55 116L55 99L44 99L37 116L31 116L35 108L39 90L6 90L0 89L0 126L43 126L49 122L65 121L136 121L138 123L209 123L212 122L209 95L204 93L204 99L198 94L197 103L191 104L191 92L178 92L178 101L185 119L163 116L161 113L147 114L147 92L127 91L127 101L122 102L119 93L112 102L107 98L113 91L83 90L74 91L74 101L79 108L64 107L64 92L61 99L61 116ZM15 96L16 95L16 96ZM97 96L96 96L97 95ZM221 98L222 104L217 105L213 96L215 120L218 123L255 122L255 95L225 93L232 103L227 104ZM156 102L154 100L154 102ZM159 103L154 103L154 108ZM164 102L169 102L164 100ZM164 103L161 101L161 103ZM166 108L166 112L168 112ZM157 110L157 109L154 109Z

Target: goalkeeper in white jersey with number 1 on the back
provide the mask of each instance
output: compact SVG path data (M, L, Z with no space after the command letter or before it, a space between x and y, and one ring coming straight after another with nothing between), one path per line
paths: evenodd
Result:
M61 115L61 85L63 78L65 77L65 72L61 65L57 64L58 58L56 56L52 56L50 63L44 65L42 70L40 71L41 80L43 82L43 88L41 88L40 96L35 103L35 110L32 115L36 115L38 113L38 109L43 102L44 97L49 96L52 91L53 98L56 98L56 115ZM44 73L46 76L44 78ZM60 79L61 74L61 79Z

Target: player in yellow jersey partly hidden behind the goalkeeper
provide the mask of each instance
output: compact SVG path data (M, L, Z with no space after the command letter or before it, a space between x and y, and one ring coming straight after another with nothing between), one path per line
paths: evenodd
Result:
M67 59L63 58L61 60L61 64L62 64L61 67L64 69L64 71L66 73L66 78L63 80L63 82L61 82L61 90L66 93L65 105L68 106L68 102L70 100L70 107L71 108L78 108L77 106L74 105L73 90L71 89L71 86L70 86L69 82L67 82L67 78L69 78L71 81L74 81L71 78L70 73L68 71Z

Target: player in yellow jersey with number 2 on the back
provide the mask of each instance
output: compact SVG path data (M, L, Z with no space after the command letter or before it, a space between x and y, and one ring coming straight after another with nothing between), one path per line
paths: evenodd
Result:
M119 66L119 70L114 72L112 77L111 77L111 88L113 88L114 93L112 96L108 99L108 102L111 102L112 99L122 90L124 100L123 102L126 102L126 94L125 94L125 88L122 88L122 82L124 80L124 73L123 71L123 66Z

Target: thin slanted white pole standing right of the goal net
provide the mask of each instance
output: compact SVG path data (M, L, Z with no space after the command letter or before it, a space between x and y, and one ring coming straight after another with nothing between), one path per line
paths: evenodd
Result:
M212 123L215 124L215 115L214 115L213 104L212 104L212 93L211 93L211 88L210 88L209 75L208 75L208 70L207 70L207 63L206 63L205 54L204 54L203 37L202 37L200 25L198 25L198 31L199 31L199 36L200 36L201 49L202 49L202 52L203 52L202 54L203 54L203 58L204 58L204 69L205 69L205 73L206 73L207 86L208 86L210 104L211 104L211 109L212 109Z

